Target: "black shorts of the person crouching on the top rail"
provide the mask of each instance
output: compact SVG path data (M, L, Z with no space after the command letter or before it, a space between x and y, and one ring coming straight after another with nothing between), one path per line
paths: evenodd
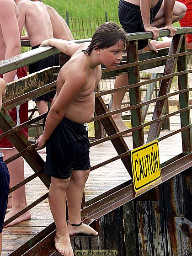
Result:
M163 0L159 0L155 7L150 9L150 23L155 19ZM139 5L133 5L124 0L119 1L119 21L123 29L127 33L144 32L144 24L142 21ZM138 49L141 50L148 45L148 40L139 40Z

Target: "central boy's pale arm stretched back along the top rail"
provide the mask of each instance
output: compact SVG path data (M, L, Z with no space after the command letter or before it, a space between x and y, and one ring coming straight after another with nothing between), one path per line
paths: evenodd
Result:
M56 39L56 38L50 38L47 40L44 40L41 46L53 46L59 51L72 56L82 45L87 44L87 43L74 43L72 41L67 41L63 39Z

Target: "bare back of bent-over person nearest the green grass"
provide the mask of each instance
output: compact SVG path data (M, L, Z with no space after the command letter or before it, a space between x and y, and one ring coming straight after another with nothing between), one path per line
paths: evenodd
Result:
M53 37L64 40L74 40L66 21L59 15L59 13L49 5L45 5L45 7L51 19Z

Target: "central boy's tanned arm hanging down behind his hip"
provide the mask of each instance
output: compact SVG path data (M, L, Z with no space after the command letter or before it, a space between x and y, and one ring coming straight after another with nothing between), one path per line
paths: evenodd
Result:
M72 68L73 69L73 68ZM76 70L71 70L70 72L74 74ZM77 72L76 72L77 73ZM43 134L38 139L37 150L43 149L47 143L47 140L50 138L54 129L58 126L61 120L64 117L64 114L69 107L70 103L75 99L79 92L85 86L86 79L82 74L75 76L68 75L64 85L59 93L59 96L53 103L48 112L48 116L45 122L45 128Z

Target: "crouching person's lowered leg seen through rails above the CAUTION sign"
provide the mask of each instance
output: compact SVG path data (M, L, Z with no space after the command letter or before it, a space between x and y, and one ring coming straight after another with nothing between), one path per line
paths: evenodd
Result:
M119 75L115 79L114 89L119 88L121 86L128 85L128 75ZM123 97L125 96L127 90L125 91L118 91L113 93L112 95L112 109L116 110L121 108L121 104L123 101ZM115 121L117 128L120 132L128 129L128 127L125 125L121 118L121 113L113 115L113 120ZM128 133L127 135L130 136L132 133Z

